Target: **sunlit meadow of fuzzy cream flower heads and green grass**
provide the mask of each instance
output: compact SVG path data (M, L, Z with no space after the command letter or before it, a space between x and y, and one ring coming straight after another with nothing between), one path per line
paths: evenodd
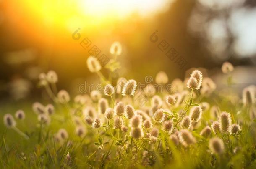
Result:
M244 88L241 98L225 97L195 69L184 81L168 81L160 71L141 88L135 79L111 78L120 44L110 53L104 66L110 77L101 73L99 58L87 58L104 91L71 98L48 71L39 75L39 86L49 103L7 105L0 168L256 168L256 86ZM225 62L221 69L230 75L234 67ZM230 75L230 92L232 84Z

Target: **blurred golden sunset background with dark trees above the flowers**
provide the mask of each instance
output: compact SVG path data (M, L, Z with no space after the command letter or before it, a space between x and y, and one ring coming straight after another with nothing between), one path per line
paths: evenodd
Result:
M229 61L238 91L256 84L256 0L0 0L0 33L1 102L38 99L38 74L49 70L73 95L86 80L97 83L84 38L108 58L119 41L125 78L165 71L171 82L204 68L221 88Z

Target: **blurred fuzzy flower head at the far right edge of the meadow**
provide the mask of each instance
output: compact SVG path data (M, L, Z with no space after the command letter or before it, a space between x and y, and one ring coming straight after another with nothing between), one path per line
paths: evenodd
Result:
M243 105L253 105L255 103L255 86L251 85L243 89Z

